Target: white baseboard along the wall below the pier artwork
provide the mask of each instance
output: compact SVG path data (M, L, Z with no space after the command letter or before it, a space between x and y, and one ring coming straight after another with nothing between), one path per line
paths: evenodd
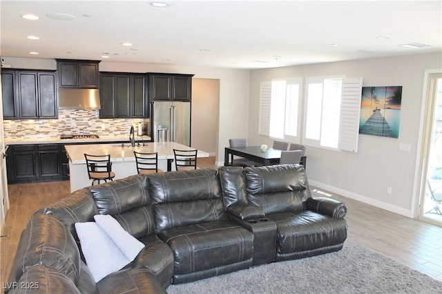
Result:
M376 200L373 198L369 198L367 196L363 196L358 193L346 191L346 190L340 189L338 187L324 184L322 182L317 182L315 180L309 180L309 185L312 185L312 186L320 188L320 189L325 189L325 190L333 192L333 193L337 193L337 194L342 195L344 197L351 198L353 200L357 200L357 201L363 202L365 204L369 204L374 207L378 207L380 209L385 209L387 211L400 214L401 216L406 216L407 218L413 218L413 213L409 209L397 207L396 205L392 205L390 203L385 203L385 202L382 202L382 201L379 201L379 200Z

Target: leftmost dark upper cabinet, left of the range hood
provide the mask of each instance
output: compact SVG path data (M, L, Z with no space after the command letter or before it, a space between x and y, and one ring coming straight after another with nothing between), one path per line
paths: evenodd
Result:
M55 76L46 71L2 71L3 118L57 118Z

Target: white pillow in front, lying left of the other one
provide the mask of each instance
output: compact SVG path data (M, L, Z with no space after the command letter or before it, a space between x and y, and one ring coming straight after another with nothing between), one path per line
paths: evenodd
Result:
M77 222L75 229L81 243L81 251L95 282L131 262L95 222Z

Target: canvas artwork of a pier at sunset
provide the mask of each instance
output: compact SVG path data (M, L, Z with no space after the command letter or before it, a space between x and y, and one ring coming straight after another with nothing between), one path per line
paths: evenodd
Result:
M398 138L402 86L363 87L359 134Z

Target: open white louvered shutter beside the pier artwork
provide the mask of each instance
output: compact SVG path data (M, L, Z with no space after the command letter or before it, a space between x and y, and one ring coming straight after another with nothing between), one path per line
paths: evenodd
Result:
M361 95L362 78L343 79L339 132L339 148L341 150L358 151Z

